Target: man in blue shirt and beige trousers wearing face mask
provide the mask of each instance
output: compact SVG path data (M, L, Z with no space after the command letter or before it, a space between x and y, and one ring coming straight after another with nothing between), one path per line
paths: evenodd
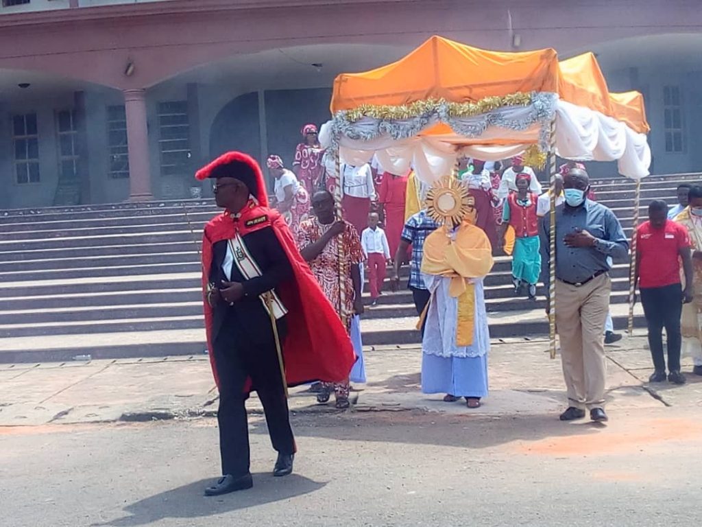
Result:
M571 169L563 187L565 202L556 209L555 316L569 405L560 418L581 419L588 409L593 421L607 421L604 322L611 291L608 259L625 258L629 243L614 212L587 199L590 178L585 170ZM548 215L541 226L541 252L541 280L548 291Z

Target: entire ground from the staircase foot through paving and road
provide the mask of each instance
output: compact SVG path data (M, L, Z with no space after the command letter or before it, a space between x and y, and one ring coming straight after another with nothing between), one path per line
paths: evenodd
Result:
M218 474L204 358L5 365L0 525L694 525L702 378L651 388L647 353L641 338L609 348L611 421L596 425L557 420L560 367L543 341L494 346L477 412L418 393L417 350L370 351L353 410L291 399L289 478L269 475L251 401L255 487L219 498L201 495Z

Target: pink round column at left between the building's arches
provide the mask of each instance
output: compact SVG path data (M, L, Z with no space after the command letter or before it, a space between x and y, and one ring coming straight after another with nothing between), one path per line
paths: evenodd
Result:
M152 200L146 90L124 90L129 147L129 201Z

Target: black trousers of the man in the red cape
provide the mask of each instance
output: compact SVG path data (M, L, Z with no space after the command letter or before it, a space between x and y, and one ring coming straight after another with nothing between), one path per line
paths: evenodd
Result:
M279 324L281 341L284 327ZM270 335L256 335L256 341L232 330L226 323L213 344L220 379L217 421L220 433L222 474L243 476L249 472L249 424L246 419L244 385L251 377L258 393L273 448L282 454L296 451L290 427L275 341Z

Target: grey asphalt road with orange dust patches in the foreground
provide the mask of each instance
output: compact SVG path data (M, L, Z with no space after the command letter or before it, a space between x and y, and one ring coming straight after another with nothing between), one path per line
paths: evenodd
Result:
M213 419L22 427L1 438L3 526L692 526L699 413L298 415L296 473L274 479L252 419L254 488L218 473Z

